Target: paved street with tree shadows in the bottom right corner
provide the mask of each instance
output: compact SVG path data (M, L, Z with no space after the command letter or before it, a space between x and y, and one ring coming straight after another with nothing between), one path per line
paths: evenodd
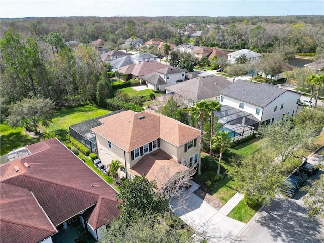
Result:
M308 159L313 164L324 164L323 155ZM324 171L308 178L310 185ZM272 242L324 242L324 220L311 220L305 214L302 197L305 192L298 191L291 199L278 198L239 234L235 242L272 243Z

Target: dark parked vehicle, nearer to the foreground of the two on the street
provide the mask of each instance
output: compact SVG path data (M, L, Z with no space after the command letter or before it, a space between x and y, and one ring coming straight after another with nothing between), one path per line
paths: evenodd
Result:
M284 183L282 183L280 190L282 193L289 197L293 197L296 193L296 191L304 186L307 181L307 175L296 171L294 174L290 175L286 178Z

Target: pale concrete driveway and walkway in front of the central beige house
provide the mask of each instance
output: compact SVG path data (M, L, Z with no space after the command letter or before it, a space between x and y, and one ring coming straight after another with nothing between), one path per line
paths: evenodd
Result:
M227 214L243 196L236 193L220 210L217 210L190 189L184 190L181 196L186 200L186 207L179 205L179 200L172 200L171 205L176 209L175 214L195 230L197 242L202 238L211 243L231 242L246 224L227 217Z

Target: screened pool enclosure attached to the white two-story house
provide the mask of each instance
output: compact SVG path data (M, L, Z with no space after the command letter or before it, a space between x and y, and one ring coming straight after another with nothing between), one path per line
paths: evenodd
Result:
M230 134L234 138L233 141L256 133L260 123L254 115L229 105L222 105L221 111L215 111L214 115L218 116L223 124L223 131L232 131Z

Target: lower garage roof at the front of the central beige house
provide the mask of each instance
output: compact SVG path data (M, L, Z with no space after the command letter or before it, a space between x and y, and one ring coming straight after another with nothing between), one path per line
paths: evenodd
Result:
M188 171L189 168L178 163L169 154L158 149L146 154L131 169L127 171L133 175L143 176L149 181L156 181L157 187L161 189L168 183L176 173Z

